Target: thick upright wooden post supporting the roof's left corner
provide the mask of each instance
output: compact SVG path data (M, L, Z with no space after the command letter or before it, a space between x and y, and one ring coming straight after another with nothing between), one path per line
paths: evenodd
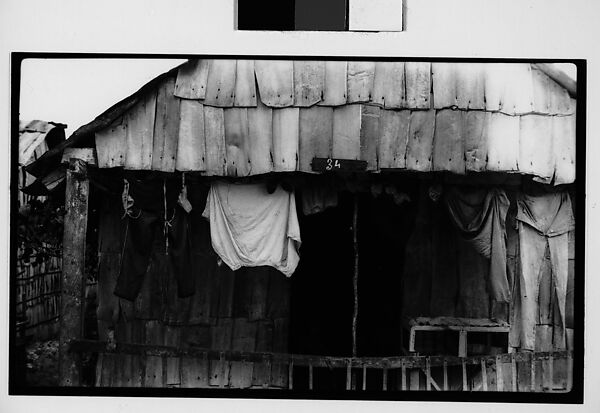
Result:
M61 276L60 335L58 347L59 385L81 384L81 358L68 351L72 340L83 338L85 294L85 239L90 184L86 166L72 159L66 172Z

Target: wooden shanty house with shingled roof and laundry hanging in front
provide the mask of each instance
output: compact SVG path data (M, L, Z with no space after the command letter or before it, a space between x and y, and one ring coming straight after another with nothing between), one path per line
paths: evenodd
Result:
M61 384L569 390L575 111L529 63L157 77L27 168L66 180Z

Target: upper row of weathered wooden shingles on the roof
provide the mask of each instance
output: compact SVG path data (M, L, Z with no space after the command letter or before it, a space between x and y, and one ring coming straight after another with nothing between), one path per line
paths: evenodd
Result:
M223 99L231 100L227 107L249 106L255 98L256 76L263 102L271 107L370 102L386 108L431 109L433 90L435 109L457 107L509 115L574 113L567 90L528 63L237 62L240 67L236 69L232 60L190 61L179 70L175 95L209 99L206 104L213 104L214 99L222 107ZM209 95L207 88L212 91ZM237 91L233 96L226 93L215 99L216 91L233 89ZM239 101L236 93L241 93Z

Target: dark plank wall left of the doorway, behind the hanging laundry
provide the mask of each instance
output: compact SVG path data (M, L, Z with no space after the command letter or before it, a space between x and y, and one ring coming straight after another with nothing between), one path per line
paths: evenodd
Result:
M207 229L201 220L192 225L198 225L192 231ZM226 264L217 263L210 243L207 251L195 250L196 292L192 297L178 297L160 236L155 238L137 299L128 302L115 297L123 227L118 201L106 199L99 221L100 340L106 340L109 328L114 328L117 343L287 352L289 279L270 267L231 271ZM287 366L267 369L253 363L103 354L97 364L96 385L286 388L287 377Z

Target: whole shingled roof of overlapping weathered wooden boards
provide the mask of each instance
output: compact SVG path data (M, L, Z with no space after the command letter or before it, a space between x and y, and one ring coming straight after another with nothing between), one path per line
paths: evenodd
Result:
M96 148L101 168L240 177L311 172L333 155L369 171L563 184L575 180L575 106L529 64L200 60L99 131Z

